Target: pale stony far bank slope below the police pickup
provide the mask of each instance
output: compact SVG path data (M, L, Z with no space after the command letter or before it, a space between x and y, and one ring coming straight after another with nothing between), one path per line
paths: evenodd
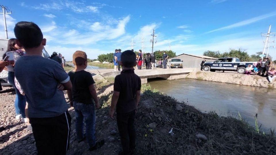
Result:
M267 78L259 75L197 71L189 73L186 78L276 89L276 82L269 84Z

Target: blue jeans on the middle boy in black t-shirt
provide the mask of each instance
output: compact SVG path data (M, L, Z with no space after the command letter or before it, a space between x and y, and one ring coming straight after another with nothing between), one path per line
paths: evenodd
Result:
M96 144L95 136L95 123L96 113L94 104L83 104L80 102L73 102L76 116L76 134L77 139L80 141L84 138L83 136L83 119L86 124L86 138L89 147L93 147Z

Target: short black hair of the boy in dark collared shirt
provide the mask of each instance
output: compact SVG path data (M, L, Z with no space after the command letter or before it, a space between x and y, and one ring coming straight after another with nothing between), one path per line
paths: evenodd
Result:
M136 55L133 51L124 51L121 55L122 65L124 67L134 67L136 65Z

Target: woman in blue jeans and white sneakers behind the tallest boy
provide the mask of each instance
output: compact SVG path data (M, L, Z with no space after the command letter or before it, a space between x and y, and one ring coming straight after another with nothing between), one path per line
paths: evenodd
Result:
M3 55L3 57L5 57L6 55L9 55L11 57L11 55L14 55L14 51L17 51L16 52L17 56L23 55L22 50L20 50L20 47L15 43L15 39L11 38L8 41L8 48L6 53ZM14 83L14 64L16 60L11 61L10 65L8 65L5 70L8 71L8 82L14 87L16 92L16 97L14 100L16 119L22 118L22 121L25 122L26 121L26 115L25 115L26 98L25 96L20 94L19 90L16 88Z

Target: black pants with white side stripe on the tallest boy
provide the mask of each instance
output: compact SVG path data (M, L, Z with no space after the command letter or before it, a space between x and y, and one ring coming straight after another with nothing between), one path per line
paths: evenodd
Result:
M69 149L71 116L29 118L38 155L65 155Z

